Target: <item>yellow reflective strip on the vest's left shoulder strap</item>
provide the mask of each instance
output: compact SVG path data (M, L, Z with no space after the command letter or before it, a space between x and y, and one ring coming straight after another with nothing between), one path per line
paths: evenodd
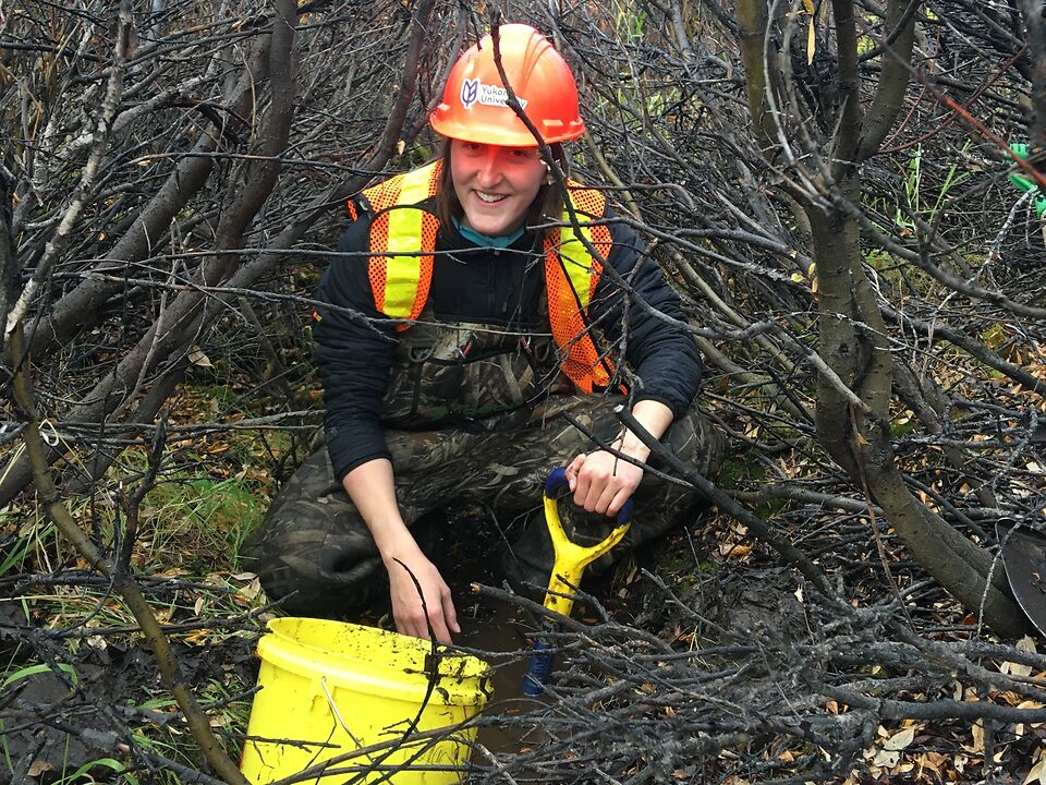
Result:
M428 197L430 167L403 176L397 205L414 205ZM389 256L385 271L385 311L392 318L411 318L422 276L422 219L425 214L410 207L389 210ZM402 255L400 255L402 254Z

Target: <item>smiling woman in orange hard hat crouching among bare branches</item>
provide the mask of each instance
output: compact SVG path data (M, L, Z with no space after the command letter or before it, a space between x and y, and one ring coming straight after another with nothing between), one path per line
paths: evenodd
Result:
M499 48L565 169L562 144L584 132L567 63L526 25L500 27ZM692 497L597 447L593 436L640 463L649 455L615 407L705 472L720 442L691 408L693 341L652 314L682 321L678 298L603 194L571 183L564 198L508 106L489 36L458 61L430 122L446 138L439 160L349 204L319 288L331 307L315 325L327 448L277 496L245 555L269 596L304 615L343 614L387 576L397 628L449 642L459 626L426 556L424 540L440 536L419 523L427 512L473 498L526 514L549 470L567 466L574 504L608 523L634 496L634 545ZM542 522L510 557L544 585Z

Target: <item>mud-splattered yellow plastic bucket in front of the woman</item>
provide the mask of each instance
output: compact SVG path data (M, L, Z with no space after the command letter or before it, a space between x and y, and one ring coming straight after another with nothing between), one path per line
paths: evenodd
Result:
M453 726L478 714L490 696L482 660L445 647L433 657L431 643L418 638L309 618L269 621L258 656L262 689L247 724L253 740L240 764L252 783L374 745L385 746L330 763L307 782L462 780L476 728Z

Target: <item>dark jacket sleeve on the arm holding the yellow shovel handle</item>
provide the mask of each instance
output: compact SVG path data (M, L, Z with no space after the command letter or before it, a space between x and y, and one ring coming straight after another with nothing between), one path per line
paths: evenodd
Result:
M605 270L596 285L589 315L611 345L623 345L625 360L640 378L632 390L633 400L660 401L679 419L697 395L701 353L689 333L647 310L686 322L679 295L646 253L638 234L623 224L611 224L610 229L613 247L607 263L632 292L623 291Z

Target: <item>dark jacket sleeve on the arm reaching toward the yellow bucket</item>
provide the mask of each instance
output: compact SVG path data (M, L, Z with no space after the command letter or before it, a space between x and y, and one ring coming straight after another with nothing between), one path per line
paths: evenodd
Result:
M367 279L369 220L353 221L319 282L313 361L324 386L327 451L341 481L361 463L389 458L381 401L398 338L378 313Z

